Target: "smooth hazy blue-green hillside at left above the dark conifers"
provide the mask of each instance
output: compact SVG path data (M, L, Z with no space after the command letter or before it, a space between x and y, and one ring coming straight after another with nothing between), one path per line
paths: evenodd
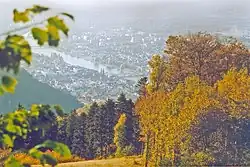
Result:
M82 107L75 97L39 82L25 70L21 70L17 78L15 94L0 96L1 114L15 110L19 103L25 107L31 104L59 104L65 112Z

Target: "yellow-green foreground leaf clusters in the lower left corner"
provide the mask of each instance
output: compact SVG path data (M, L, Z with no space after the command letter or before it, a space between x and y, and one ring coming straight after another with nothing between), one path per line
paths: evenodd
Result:
M26 139L33 131L46 131L54 121L54 115L59 116L61 111L58 106L51 108L46 105L32 105L30 110L18 109L15 112L8 113L1 117L0 120L0 141L2 148L13 148L16 139ZM42 165L56 165L57 160L41 149L51 149L63 157L71 157L70 150L62 143L47 140L26 152L31 157L38 159ZM22 167L24 164L19 163L12 153L5 161L5 166ZM27 166L27 165L26 165Z

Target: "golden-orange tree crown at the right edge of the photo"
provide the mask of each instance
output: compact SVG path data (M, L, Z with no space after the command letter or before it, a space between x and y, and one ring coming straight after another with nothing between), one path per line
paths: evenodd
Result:
M236 118L248 118L250 115L250 77L247 68L229 70L223 79L215 85L223 102L223 111Z

